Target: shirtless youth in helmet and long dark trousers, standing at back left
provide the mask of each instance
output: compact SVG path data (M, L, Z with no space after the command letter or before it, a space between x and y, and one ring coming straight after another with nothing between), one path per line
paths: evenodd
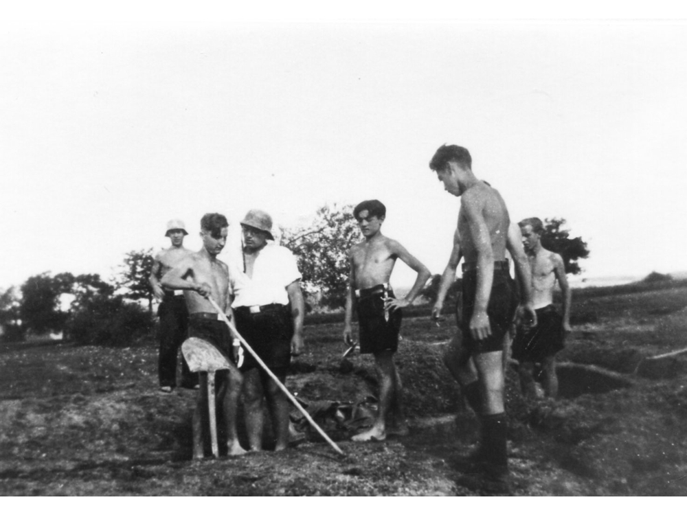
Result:
M188 309L181 290L165 290L160 285L160 278L170 271L183 258L191 253L183 247L183 238L188 233L181 220L167 222L165 236L170 238L172 246L159 252L153 261L148 282L153 286L155 298L160 301L157 316L160 317L157 340L159 354L157 371L160 389L171 393L177 386L177 354L179 347L188 334ZM188 363L181 356L181 387L194 388L198 385L196 374L191 374Z

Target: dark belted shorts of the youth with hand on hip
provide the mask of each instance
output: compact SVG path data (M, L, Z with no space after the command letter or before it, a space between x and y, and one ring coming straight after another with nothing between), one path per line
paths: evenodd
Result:
M387 290L387 293L390 298L396 298L392 290ZM403 312L400 308L396 308L389 312L388 321L384 318L384 287L379 285L360 290L357 312L360 353L374 354L383 350L396 352Z

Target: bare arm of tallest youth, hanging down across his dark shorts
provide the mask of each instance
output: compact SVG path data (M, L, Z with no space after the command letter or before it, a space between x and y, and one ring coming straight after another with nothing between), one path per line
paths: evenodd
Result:
M461 209L467 219L471 240L477 252L477 292L469 327L473 338L483 340L491 336L491 325L486 308L494 281L494 253L491 248L489 228L482 214L480 198L464 194Z

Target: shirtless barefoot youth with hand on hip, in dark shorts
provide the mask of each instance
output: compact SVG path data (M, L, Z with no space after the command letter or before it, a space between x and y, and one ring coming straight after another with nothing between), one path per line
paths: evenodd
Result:
M386 207L380 201L364 201L355 207L353 216L365 240L351 247L350 287L346 297L346 321L343 340L351 341L353 304L357 304L360 328L361 354L373 354L379 376L379 411L372 428L352 437L354 442L381 441L387 434L407 435L408 427L403 415L401 378L393 357L398 347L398 331L403 312L425 286L431 276L427 267L414 258L400 243L381 233ZM403 299L396 299L389 278L396 260L418 273L415 284ZM387 415L395 422L387 431Z

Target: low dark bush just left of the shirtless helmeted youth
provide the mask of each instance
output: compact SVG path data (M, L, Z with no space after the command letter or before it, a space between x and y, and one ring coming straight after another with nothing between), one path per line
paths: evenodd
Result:
M66 334L78 345L129 347L153 329L150 313L124 297L94 295L69 314Z

